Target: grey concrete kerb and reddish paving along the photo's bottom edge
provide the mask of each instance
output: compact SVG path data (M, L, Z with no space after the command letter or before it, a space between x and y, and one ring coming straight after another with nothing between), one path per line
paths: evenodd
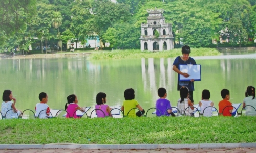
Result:
M0 144L0 153L256 153L256 143L202 143L202 144Z

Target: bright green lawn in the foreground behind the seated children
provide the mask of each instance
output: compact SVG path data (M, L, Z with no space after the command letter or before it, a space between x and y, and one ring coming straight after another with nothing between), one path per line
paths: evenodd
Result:
M256 141L256 117L0 120L0 144L175 144Z

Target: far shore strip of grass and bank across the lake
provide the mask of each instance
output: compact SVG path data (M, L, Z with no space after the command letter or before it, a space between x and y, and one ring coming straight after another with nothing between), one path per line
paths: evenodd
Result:
M191 56L218 56L221 53L232 52L237 50L239 52L251 52L256 50L256 47L241 47L241 48L191 48ZM47 54L31 53L20 55L16 53L11 57L9 54L1 53L0 59L34 59L34 58L67 58L67 57L88 57L88 60L100 60L100 59L138 59L138 58L168 58L177 57L181 55L180 48L176 48L163 52L141 52L140 49L124 49L124 50L77 50L75 52L50 52Z

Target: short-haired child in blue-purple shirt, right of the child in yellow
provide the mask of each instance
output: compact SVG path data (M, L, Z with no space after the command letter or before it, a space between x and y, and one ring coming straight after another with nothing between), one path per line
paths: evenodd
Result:
M157 116L175 116L172 112L172 106L170 106L170 101L166 99L167 93L165 88L159 88L158 89L158 96L160 97L156 101L156 115ZM168 109L168 110L167 110Z

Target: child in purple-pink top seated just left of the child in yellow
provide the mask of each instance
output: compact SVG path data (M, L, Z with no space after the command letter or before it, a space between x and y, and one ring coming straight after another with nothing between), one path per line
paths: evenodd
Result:
M96 110L97 116L98 117L106 117L106 116L112 116L110 114L111 108L108 105L105 105L106 103L106 94L103 92L99 92L96 95L96 103L97 105L95 105L95 109L100 109L100 110Z

